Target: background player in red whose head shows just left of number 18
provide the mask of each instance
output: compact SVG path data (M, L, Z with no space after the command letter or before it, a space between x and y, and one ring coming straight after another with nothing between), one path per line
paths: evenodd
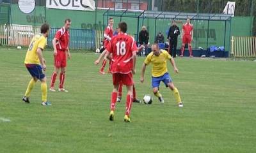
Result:
M114 24L113 18L109 18L108 26L106 27L106 29L104 31L104 48L105 49L108 47L108 44L111 41L111 38L113 37L113 24ZM104 60L102 61L102 66L100 68L100 73L102 75L105 74L104 68L105 68L106 64L107 64L107 59L105 56ZM111 61L109 61L109 67L110 67L110 65L111 65ZM110 71L110 69L109 69L109 71Z

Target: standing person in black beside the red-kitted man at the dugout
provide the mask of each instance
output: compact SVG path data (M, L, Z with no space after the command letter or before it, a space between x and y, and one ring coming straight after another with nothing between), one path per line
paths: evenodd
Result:
M177 26L177 21L172 20L172 26L169 29L168 32L168 39L170 40L170 50L169 54L172 55L172 57L176 57L176 50L177 50L177 43L178 43L178 36L180 34L180 29Z

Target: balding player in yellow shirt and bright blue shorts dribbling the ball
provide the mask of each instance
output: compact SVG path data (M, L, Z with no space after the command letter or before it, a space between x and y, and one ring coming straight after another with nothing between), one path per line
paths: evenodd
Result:
M157 43L152 44L152 52L147 55L142 67L142 73L140 81L144 82L145 70L148 64L152 64L152 88L154 95L157 96L161 103L164 103L164 99L159 92L160 83L163 82L166 87L169 87L176 99L179 107L183 107L183 103L180 99L180 94L178 89L174 86L172 78L170 77L167 69L167 61L170 61L175 73L179 73L176 67L175 61L172 56L168 54L166 50L160 50Z

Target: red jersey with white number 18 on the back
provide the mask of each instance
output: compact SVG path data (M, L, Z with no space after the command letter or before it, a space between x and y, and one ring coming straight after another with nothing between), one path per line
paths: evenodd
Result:
M132 36L126 33L117 34L112 38L106 50L113 56L111 73L131 73L132 53L137 51L137 45Z

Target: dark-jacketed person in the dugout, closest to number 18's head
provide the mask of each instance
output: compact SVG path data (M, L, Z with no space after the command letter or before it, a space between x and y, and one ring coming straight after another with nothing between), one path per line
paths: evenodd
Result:
M145 56L148 55L148 40L149 40L149 34L146 29L146 26L142 26L142 30L139 33L139 47L141 45L144 45L145 47ZM139 53L141 55L141 52Z

